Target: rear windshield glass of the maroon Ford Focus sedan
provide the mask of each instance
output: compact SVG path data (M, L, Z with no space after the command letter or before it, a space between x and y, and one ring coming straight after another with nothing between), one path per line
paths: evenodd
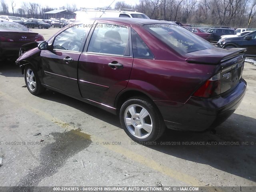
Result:
M172 24L150 24L144 26L156 38L180 54L187 54L204 49L214 48L210 42L188 30Z

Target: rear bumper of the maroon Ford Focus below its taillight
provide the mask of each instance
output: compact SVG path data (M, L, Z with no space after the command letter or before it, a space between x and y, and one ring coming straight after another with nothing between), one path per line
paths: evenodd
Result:
M203 131L224 122L242 102L246 92L246 81L240 83L228 96L214 98L190 97L185 103L154 101L166 126L176 130Z

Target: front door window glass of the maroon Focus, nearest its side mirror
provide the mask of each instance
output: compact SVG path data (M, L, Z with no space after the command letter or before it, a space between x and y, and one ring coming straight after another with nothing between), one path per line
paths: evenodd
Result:
M90 28L83 24L74 25L56 36L53 48L79 51L84 38L87 37Z

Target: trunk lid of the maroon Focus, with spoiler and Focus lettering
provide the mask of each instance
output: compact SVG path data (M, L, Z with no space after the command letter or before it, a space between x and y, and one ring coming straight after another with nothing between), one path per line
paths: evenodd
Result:
M228 94L236 88L242 78L245 51L244 48L212 48L186 54L186 61L216 65L215 78L220 82L220 94Z

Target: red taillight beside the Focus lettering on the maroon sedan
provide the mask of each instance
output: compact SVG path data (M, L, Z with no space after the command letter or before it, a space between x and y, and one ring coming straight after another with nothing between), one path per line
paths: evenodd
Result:
M207 80L193 96L209 98L220 94L220 73Z

